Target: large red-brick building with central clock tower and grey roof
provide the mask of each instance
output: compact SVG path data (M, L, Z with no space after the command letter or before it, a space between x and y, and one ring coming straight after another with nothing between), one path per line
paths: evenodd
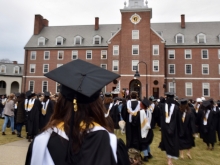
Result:
M220 96L220 22L151 23L152 9L143 0L129 0L121 24L48 26L35 15L34 34L25 46L23 90L58 92L44 73L77 58L121 75L103 89L122 95L159 97ZM140 77L134 78L138 70Z

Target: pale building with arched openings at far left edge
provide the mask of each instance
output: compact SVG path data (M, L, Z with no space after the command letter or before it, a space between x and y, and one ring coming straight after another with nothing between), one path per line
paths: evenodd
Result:
M21 92L23 64L0 62L0 95Z

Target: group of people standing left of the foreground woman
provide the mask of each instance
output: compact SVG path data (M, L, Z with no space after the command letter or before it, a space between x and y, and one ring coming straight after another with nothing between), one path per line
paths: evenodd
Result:
M22 138L22 127L25 126L26 138L29 142L48 123L56 104L58 95L49 92L11 93L0 99L0 116L4 119L2 135L6 135L6 127L11 127L12 135Z

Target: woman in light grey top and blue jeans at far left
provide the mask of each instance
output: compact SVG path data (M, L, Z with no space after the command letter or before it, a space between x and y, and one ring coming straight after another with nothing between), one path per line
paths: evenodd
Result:
M4 116L5 116L5 120L4 120L4 124L2 126L2 135L6 135L5 134L5 128L6 125L8 123L8 120L10 120L11 122L11 131L12 131L12 135L15 135L15 131L14 131L14 94L11 93L7 99L7 101L5 102L5 110L4 110Z

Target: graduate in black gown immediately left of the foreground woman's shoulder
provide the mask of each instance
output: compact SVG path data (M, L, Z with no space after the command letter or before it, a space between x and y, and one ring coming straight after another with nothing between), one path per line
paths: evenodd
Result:
M40 124L39 124L40 130L42 130L47 125L54 110L54 102L50 100L49 92L44 92L44 98L41 104L42 104L42 108L40 112Z

